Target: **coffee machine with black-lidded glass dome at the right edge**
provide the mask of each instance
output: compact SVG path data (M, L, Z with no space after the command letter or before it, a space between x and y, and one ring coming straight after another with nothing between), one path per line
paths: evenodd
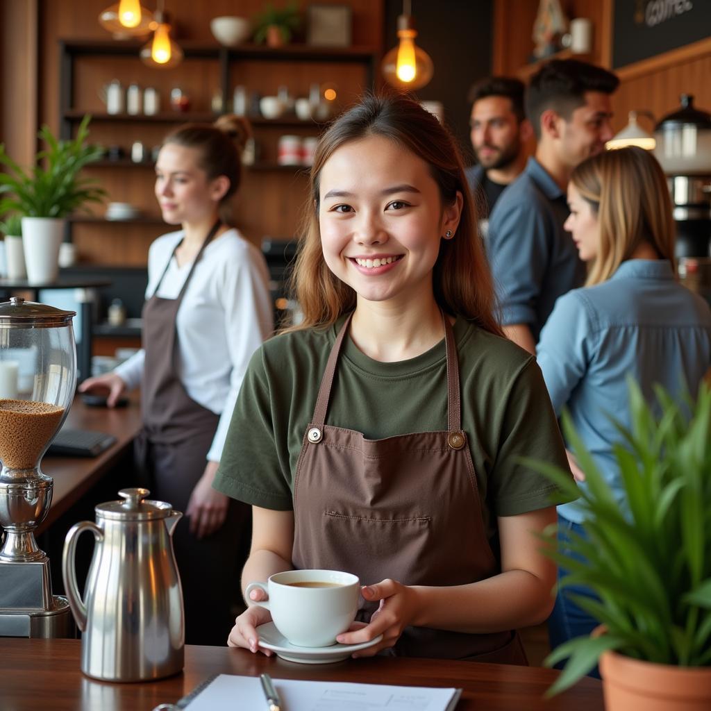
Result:
M671 193L676 257L703 260L711 257L711 114L690 94L680 100L680 109L656 126L654 154Z

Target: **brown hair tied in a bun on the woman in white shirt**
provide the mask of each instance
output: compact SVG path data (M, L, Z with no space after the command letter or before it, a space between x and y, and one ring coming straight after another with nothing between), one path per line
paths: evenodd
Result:
M220 200L218 211L226 225L232 224L231 198L237 193L242 178L242 151L252 127L242 116L225 114L213 125L183 124L169 133L163 145L175 144L198 151L198 166L205 171L208 181L226 176L230 187Z

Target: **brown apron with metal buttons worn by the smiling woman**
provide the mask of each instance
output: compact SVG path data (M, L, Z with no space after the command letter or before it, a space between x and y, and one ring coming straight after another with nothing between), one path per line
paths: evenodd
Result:
M466 433L461 430L459 362L449 320L448 429L365 439L326 424L346 319L328 358L314 418L304 434L294 481L296 568L347 570L361 584L390 577L445 587L500 572L486 538ZM387 396L387 393L384 393ZM362 602L368 621L377 604ZM408 627L397 656L526 664L518 635L465 634Z

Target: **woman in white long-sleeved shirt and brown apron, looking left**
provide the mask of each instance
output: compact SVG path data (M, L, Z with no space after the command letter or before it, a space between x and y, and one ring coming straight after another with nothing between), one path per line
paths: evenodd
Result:
M82 392L109 407L141 387L139 470L151 498L186 513L173 542L183 585L186 641L223 644L240 602L250 510L212 487L247 363L272 332L267 266L229 227L249 126L220 117L164 140L156 198L177 232L150 247L141 351Z

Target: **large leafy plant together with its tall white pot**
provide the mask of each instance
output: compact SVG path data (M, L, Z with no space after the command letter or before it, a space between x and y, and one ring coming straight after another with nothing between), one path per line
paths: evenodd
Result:
M87 114L75 138L56 139L47 126L38 136L46 144L35 166L24 171L0 144L0 213L12 210L22 215L22 233L28 282L44 284L58 274L59 245L63 240L65 218L87 202L100 202L105 191L97 181L80 177L88 164L99 160L101 146L87 144Z

